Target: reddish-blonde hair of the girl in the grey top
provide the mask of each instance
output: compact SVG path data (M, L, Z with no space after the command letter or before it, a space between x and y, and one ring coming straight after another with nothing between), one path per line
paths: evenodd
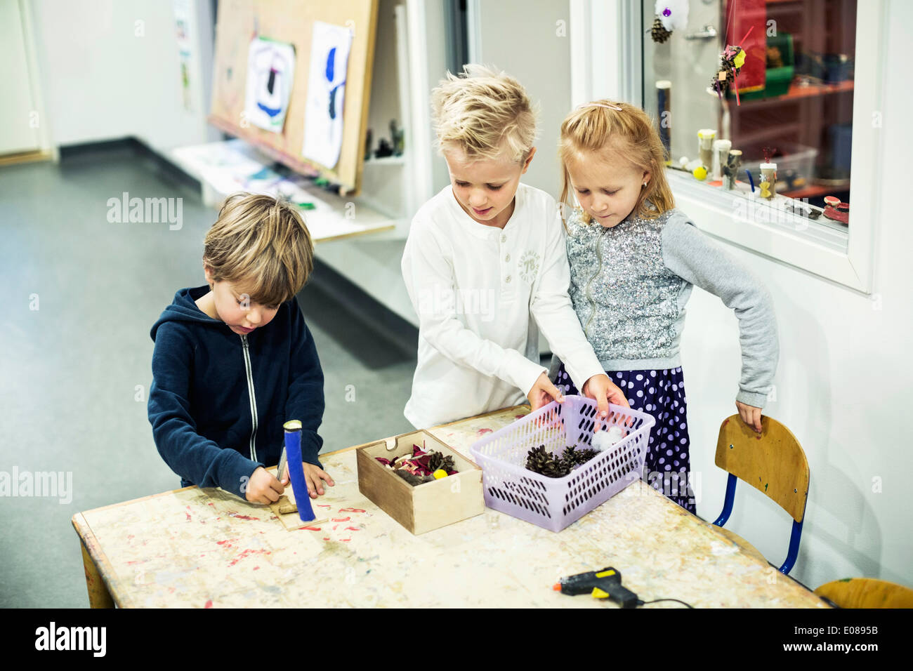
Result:
M596 100L567 115L561 123L558 142L562 210L573 207L568 161L579 152L602 153L603 157L615 152L638 170L650 173L650 181L641 189L632 211L635 217L655 219L676 206L666 181L666 151L653 121L644 110L626 102ZM589 224L591 221L592 217L584 212L583 222Z

